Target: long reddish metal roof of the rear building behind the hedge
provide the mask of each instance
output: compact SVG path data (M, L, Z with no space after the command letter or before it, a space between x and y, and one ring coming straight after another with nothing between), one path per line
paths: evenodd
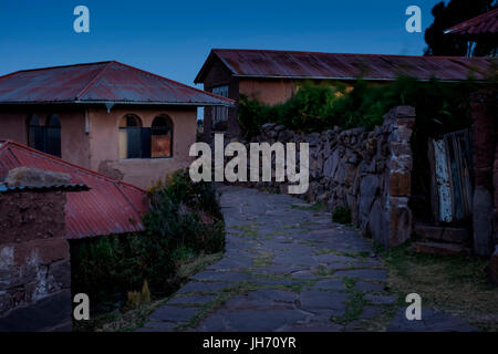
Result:
M491 69L491 60L485 58L214 49L195 83L204 82L216 59L239 77L355 80L362 76L384 81L404 74L418 80L461 81L470 74L485 80Z

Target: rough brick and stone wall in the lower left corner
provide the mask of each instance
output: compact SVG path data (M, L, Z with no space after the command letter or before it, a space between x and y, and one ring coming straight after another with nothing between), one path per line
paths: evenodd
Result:
M0 332L71 330L61 190L0 192Z

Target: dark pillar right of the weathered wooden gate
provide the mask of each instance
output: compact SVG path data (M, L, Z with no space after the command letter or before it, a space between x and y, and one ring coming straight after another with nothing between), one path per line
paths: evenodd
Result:
M474 121L473 200L474 250L478 256L494 252L494 165L496 154L496 93L475 92L470 95Z

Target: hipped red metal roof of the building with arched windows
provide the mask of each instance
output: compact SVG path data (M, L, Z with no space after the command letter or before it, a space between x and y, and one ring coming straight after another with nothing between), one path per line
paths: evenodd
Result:
M111 103L231 105L234 102L115 61L0 76L0 104Z

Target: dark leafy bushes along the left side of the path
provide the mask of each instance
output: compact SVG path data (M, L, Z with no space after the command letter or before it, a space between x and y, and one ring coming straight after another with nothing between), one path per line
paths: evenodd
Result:
M178 171L148 194L144 232L71 241L74 293L89 294L93 303L125 301L147 280L153 295L169 294L181 261L222 251L225 229L211 185Z

